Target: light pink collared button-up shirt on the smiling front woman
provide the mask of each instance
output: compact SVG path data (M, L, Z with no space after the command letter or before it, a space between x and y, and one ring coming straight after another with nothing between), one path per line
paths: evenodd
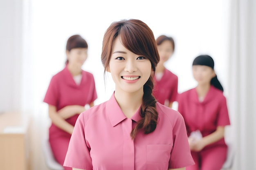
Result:
M114 94L107 102L81 113L77 119L64 166L83 170L167 170L194 164L184 119L157 103L155 131L130 137L141 119L140 108L127 118Z

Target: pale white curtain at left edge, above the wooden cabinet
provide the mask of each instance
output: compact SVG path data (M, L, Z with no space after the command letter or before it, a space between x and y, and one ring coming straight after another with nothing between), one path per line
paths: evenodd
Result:
M22 1L0 1L0 113L19 110L22 70Z

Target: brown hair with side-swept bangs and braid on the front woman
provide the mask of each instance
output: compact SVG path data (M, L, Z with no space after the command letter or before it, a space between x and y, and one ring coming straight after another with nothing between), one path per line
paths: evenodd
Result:
M153 31L141 20L120 20L113 22L106 30L103 37L101 62L104 66L104 74L109 67L112 45L115 38L121 38L123 46L137 55L143 55L151 62L153 73L159 62L159 54ZM137 122L131 131L132 139L135 138L137 131L144 130L144 134L153 132L157 126L158 113L156 110L156 100L152 95L154 88L153 75L144 84L144 95L142 99L140 115L142 119Z

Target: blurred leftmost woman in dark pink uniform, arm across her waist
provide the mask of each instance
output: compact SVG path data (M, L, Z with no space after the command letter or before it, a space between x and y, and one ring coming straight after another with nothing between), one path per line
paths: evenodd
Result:
M92 107L97 99L92 73L82 70L88 57L87 50L88 44L80 35L73 35L67 40L65 68L52 77L43 100L49 104L49 117L52 120L49 143L55 159L61 165L77 117L85 110L85 105Z

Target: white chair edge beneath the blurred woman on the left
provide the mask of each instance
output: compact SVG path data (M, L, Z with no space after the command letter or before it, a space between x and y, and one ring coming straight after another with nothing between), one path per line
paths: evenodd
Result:
M45 163L50 170L64 170L63 166L55 160L48 138L43 140L43 153Z

